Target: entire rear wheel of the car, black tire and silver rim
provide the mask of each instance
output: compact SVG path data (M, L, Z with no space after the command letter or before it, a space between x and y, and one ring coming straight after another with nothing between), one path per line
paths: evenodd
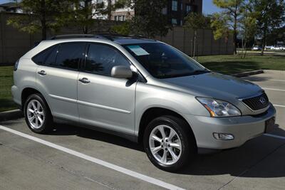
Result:
M24 115L26 124L31 131L44 134L51 130L53 117L46 101L40 94L33 94L27 98Z

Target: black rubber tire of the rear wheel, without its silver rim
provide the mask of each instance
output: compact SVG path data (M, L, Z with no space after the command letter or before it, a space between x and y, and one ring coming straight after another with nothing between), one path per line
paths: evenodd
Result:
M31 127L30 122L28 121L27 107L28 107L28 103L31 102L31 100L37 100L38 102L41 103L41 106L43 107L43 115L44 115L45 120L43 121L43 125L38 129L34 129L33 127ZM48 130L50 130L51 120L52 120L51 112L48 109L46 101L43 99L41 95L33 94L27 98L25 105L24 105L24 115L25 115L26 124L28 125L28 128L30 128L31 131L36 132L36 133L45 133L45 132L48 132Z

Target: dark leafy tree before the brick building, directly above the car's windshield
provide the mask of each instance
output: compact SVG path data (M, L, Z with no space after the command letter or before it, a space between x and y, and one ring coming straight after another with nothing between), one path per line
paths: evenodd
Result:
M167 0L134 0L135 16L130 21L130 30L135 35L165 36L172 27L168 24L167 15L163 9L167 7Z

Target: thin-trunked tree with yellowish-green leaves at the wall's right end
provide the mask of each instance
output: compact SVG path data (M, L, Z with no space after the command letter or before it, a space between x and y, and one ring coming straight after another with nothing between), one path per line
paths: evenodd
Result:
M223 9L223 11L215 16L222 19L222 27L227 26L229 30L233 31L233 40L234 40L234 53L237 53L237 34L239 28L239 19L241 17L241 9L244 4L244 0L213 0L213 3ZM219 24L216 24L216 29L221 32L221 29L218 28Z

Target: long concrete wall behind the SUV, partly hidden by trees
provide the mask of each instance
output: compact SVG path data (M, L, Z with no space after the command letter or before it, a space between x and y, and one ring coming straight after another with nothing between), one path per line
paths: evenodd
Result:
M41 34L28 34L7 26L6 21L10 16L15 14L0 13L0 64L15 63L17 59L24 55L33 44L41 41ZM100 31L107 31L110 26L118 24L115 21L98 21L93 28L100 28ZM52 33L48 36L56 34L81 33L80 29L63 28L60 33ZM194 32L186 30L182 27L175 27L165 37L158 37L157 40L169 43L181 51L192 55ZM224 41L220 39L214 41L211 30L199 30L197 32L197 53L201 55L217 55L217 54L232 54L232 40Z

